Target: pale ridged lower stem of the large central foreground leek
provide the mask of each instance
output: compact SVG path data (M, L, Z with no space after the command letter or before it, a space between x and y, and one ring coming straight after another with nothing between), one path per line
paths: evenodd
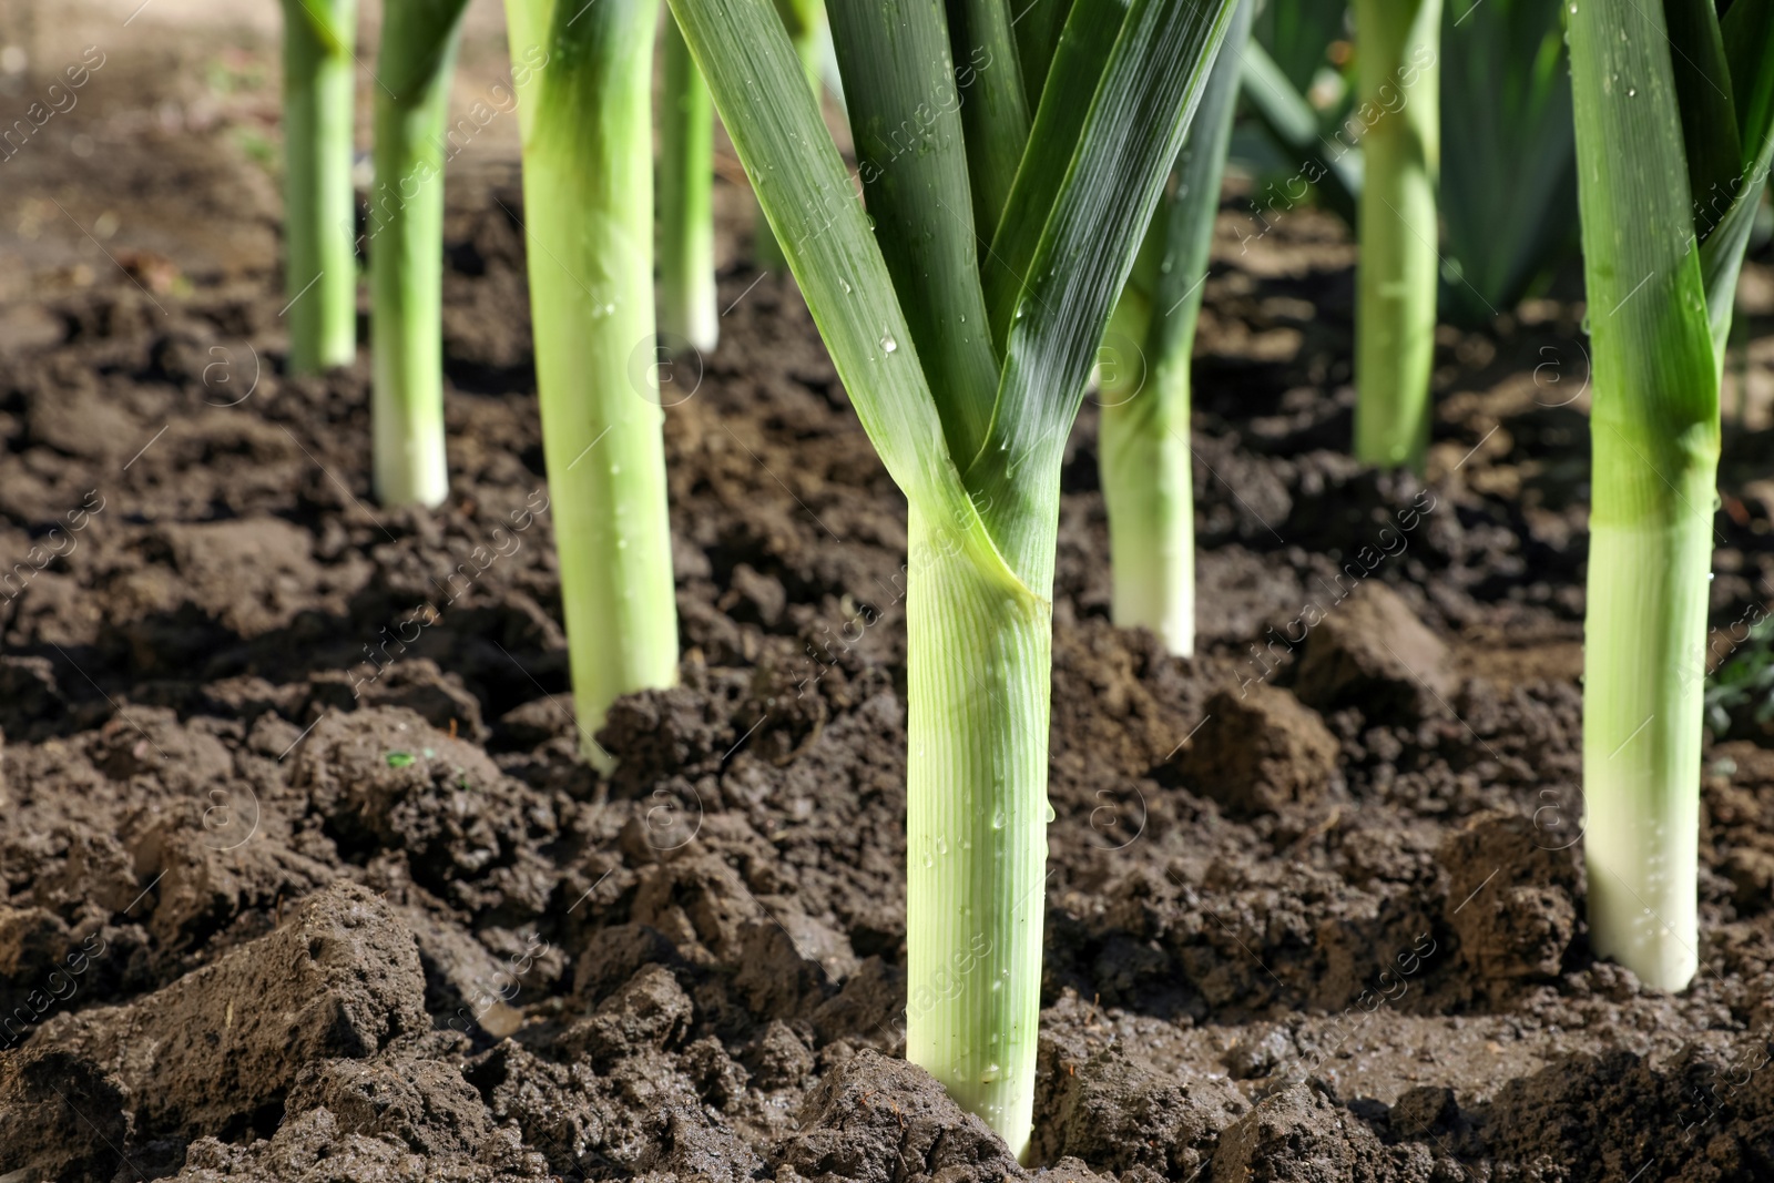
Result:
M915 505L907 578L907 1046L963 1109L1034 1109L1052 610ZM1020 1149L1020 1148L1018 1148Z

